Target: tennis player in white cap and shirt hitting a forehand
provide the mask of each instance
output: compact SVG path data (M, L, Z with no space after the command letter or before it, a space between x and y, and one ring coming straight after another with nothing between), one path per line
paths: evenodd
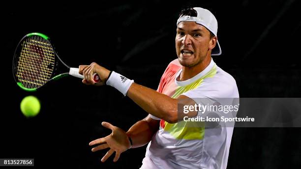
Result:
M114 152L116 162L129 148L148 144L141 169L226 169L233 127L185 127L178 114L180 99L193 105L202 104L195 98L239 98L235 79L211 58L221 54L216 18L200 7L182 10L175 41L178 58L169 63L156 91L97 63L80 65L84 84L111 85L149 113L127 132L102 122L112 134L90 142L97 144L93 152L110 148L102 162ZM94 73L102 83L94 83Z

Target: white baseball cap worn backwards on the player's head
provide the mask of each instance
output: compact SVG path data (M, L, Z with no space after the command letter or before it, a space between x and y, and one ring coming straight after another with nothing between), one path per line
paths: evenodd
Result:
M197 17L192 16L181 16L177 21L177 26L180 22L190 21L196 22L199 25L204 26L208 30L210 30L215 36L217 36L217 20L214 15L207 9L201 7L194 7L194 10L197 11ZM220 45L217 40L217 44L211 51L211 56L221 55Z

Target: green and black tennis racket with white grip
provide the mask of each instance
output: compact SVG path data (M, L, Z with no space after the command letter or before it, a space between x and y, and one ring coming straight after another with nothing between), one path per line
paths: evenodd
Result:
M62 72L62 69L66 69ZM13 74L17 84L26 91L36 91L49 81L65 76L84 79L79 69L65 64L49 38L42 33L29 33L19 42L13 59ZM100 82L97 74L93 75L95 83Z

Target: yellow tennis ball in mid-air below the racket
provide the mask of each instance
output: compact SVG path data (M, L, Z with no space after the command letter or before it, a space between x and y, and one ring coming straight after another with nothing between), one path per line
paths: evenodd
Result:
M40 112L41 105L34 96L27 96L21 101L21 112L27 117L33 117Z

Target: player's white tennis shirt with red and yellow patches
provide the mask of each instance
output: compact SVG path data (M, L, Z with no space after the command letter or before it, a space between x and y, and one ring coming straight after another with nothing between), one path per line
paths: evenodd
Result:
M173 60L157 91L172 98L185 95L196 103L200 101L195 98L239 98L235 79L213 59L198 75L179 82L181 68L179 60ZM148 144L141 169L226 169L233 127L186 127L185 121L171 124L151 118L160 120L160 127Z

